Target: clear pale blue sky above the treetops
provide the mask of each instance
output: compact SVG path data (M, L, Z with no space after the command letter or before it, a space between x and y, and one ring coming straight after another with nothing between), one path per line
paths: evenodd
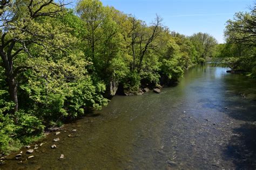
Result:
M249 11L256 0L102 0L103 5L151 23L156 14L171 31L186 36L206 32L219 43L224 42L224 29L234 13Z

